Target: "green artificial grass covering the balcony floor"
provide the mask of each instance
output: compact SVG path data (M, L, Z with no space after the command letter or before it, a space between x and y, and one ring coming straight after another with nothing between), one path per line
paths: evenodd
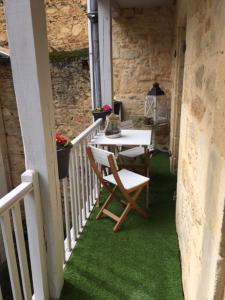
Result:
M173 200L176 177L169 173L165 153L154 154L150 167L149 219L132 211L114 233L111 219L96 221L95 208L66 265L61 300L183 299ZM115 201L112 209L118 207Z

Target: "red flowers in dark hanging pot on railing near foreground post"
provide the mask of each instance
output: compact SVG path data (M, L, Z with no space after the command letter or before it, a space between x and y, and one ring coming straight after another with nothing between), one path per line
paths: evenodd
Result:
M69 157L72 144L57 131L55 133L59 179L69 175Z

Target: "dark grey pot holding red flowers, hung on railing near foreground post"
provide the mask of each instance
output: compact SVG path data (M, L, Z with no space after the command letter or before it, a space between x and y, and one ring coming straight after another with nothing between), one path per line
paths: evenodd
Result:
M69 158L71 148L72 146L69 145L65 148L57 149L59 179L63 179L69 175Z

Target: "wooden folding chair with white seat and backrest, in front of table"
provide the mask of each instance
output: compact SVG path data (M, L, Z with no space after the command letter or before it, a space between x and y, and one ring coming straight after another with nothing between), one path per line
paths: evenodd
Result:
M89 146L87 155L100 184L105 187L109 194L96 219L102 215L110 217L116 222L113 231L117 232L131 209L147 218L147 213L138 207L137 201L142 190L148 186L149 178L126 169L118 170L115 155L112 152ZM98 167L99 165L109 168L110 175L104 176ZM117 191L121 192L122 199L116 194ZM119 217L107 209L113 199L117 199L125 206Z

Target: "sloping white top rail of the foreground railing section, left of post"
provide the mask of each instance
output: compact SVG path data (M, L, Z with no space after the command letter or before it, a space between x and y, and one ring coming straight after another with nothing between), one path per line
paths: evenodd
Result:
M0 199L0 216L33 190L32 182L22 182Z

